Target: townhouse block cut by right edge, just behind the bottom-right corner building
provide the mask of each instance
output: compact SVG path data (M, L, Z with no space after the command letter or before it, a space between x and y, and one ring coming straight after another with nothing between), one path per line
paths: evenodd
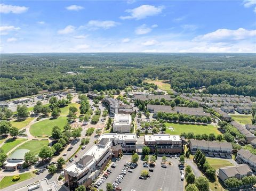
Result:
M241 148L237 152L236 157L239 163L247 164L253 171L256 171L256 155L252 154L249 150Z

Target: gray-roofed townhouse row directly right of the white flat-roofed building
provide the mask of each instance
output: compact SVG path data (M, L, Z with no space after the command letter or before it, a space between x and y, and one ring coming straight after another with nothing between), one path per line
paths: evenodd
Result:
M232 152L231 143L227 142L210 142L206 140L189 139L189 149L192 154L201 150L206 156L230 158Z

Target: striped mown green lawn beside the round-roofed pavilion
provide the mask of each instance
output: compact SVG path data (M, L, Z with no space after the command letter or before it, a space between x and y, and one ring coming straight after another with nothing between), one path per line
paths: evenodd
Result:
M16 150L25 148L25 149L29 150L31 153L37 155L39 153L39 151L41 150L41 148L43 146L47 146L48 144L49 144L48 140L29 140L28 142L20 145Z

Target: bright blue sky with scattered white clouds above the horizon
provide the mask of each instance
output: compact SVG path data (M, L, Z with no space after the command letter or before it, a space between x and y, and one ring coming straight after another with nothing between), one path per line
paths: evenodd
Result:
M1 53L255 53L256 0L1 1Z

